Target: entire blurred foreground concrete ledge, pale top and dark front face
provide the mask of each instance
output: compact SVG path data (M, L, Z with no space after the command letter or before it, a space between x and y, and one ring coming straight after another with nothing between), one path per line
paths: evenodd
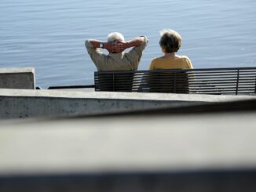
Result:
M255 115L2 121L0 189L254 191Z

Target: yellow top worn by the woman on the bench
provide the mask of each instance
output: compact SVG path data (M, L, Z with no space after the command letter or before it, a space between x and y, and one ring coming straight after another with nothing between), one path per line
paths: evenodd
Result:
M180 58L175 58L175 59L170 59L162 56L152 60L149 70L192 69L192 68L193 66L188 56L181 56Z

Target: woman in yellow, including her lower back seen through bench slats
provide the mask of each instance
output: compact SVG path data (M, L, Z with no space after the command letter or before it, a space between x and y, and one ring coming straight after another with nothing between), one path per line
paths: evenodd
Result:
M167 69L192 69L192 63L188 56L178 56L177 51L181 48L181 35L170 29L160 31L163 56L152 60L148 75L148 87L150 92L177 92L188 93L188 74L186 72L154 73L153 70Z

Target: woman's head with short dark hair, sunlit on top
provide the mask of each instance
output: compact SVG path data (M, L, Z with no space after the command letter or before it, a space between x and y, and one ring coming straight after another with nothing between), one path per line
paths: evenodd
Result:
M181 48L181 35L177 31L163 29L160 34L159 44L164 53L174 53Z

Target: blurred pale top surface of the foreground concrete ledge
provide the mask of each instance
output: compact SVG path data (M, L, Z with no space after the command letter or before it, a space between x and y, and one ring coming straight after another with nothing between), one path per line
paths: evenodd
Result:
M255 115L2 121L0 172L255 168Z

